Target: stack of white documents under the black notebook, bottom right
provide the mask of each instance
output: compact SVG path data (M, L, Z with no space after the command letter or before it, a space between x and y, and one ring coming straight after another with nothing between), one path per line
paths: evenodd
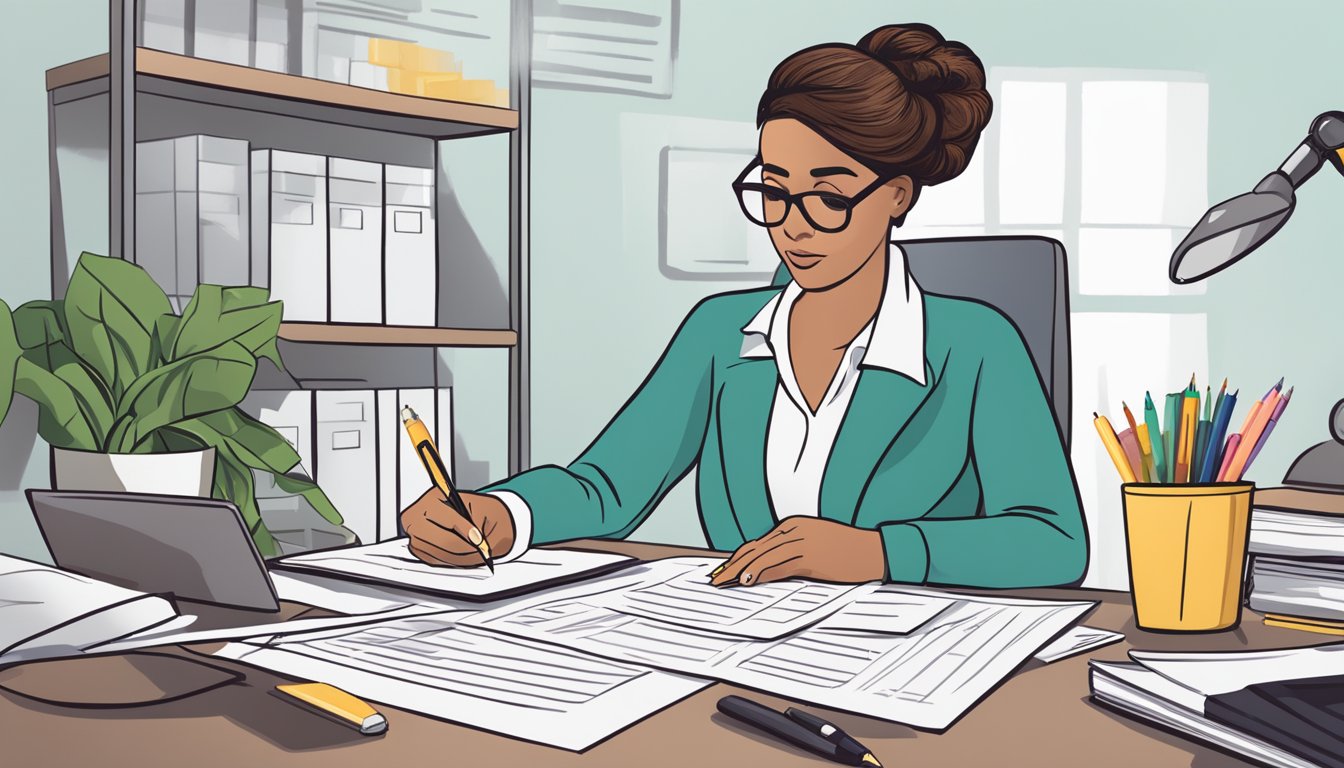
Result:
M1344 683L1339 677L1344 675L1344 646L1132 651L1130 658L1133 663L1091 662L1098 702L1266 765L1344 764L1337 693Z

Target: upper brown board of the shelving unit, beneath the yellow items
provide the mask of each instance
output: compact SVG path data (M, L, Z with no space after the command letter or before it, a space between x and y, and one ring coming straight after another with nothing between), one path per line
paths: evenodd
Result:
M106 54L47 70L47 90L102 81ZM503 133L519 126L515 109L403 95L314 78L136 48L136 87L198 104L371 128L426 139Z

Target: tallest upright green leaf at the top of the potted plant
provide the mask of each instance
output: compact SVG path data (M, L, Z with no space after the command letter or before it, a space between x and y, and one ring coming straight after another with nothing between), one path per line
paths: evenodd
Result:
M168 297L153 278L120 258L82 254L66 288L70 347L98 373L117 401L152 367L155 321L171 312Z

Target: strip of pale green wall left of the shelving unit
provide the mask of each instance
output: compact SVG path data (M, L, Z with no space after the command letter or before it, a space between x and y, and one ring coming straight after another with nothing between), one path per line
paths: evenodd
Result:
M106 0L43 0L0 4L0 17L8 35L0 46L0 299L17 305L51 295L50 206L47 203L47 87L50 67L106 52ZM108 179L87 179L87 184L108 184ZM102 227L106 231L106 225ZM102 235L106 242L106 234ZM0 429L0 441L32 444L35 424L31 404L16 402L16 413ZM24 430L22 428L28 426ZM34 447L15 483L19 469L9 456L0 467L0 551L44 557L38 530L32 525L22 488L48 484L47 451ZM0 459L4 460L4 459Z

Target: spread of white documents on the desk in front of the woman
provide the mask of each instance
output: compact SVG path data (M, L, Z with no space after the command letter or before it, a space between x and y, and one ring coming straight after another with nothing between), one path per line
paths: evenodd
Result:
M712 679L942 730L1034 654L1063 658L1116 639L1068 632L1093 603L812 581L716 589L708 574L719 562L531 550L489 576L423 565L405 539L310 553L278 565L308 580L434 596L411 608L363 594L370 609L442 609L270 633L222 654L390 706L583 749ZM521 597L501 600L511 596ZM495 603L474 609L470 601L482 600Z

